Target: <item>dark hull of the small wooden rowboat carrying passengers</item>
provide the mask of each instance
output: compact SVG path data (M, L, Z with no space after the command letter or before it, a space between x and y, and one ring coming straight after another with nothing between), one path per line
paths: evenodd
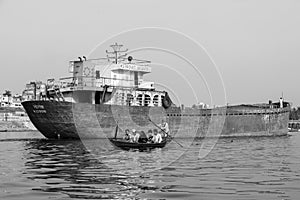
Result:
M125 150L128 149L145 150L145 149L163 148L167 144L167 140L163 140L161 143L135 143L135 142L129 142L124 139L119 139L119 138L109 138L109 141L115 146Z

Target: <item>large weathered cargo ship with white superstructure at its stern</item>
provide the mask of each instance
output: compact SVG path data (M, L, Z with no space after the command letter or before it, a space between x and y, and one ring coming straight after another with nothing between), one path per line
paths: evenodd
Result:
M176 106L167 91L144 80L150 61L111 45L106 58L69 62L71 77L34 88L22 102L34 126L47 138L107 138L115 127L148 130L161 120L174 137L279 136L288 132L290 104L241 104L211 109Z

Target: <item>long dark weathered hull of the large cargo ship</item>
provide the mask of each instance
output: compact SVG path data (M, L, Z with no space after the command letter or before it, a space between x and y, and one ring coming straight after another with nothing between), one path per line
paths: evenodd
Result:
M231 106L181 110L177 107L116 106L58 101L22 103L35 127L47 138L109 138L121 129L147 131L162 119L176 137L282 136L290 108Z

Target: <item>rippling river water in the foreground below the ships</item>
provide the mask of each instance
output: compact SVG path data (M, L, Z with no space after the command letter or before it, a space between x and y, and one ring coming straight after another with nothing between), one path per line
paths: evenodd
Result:
M184 144L182 140L180 143ZM107 140L0 141L0 199L299 199L300 134L122 151Z

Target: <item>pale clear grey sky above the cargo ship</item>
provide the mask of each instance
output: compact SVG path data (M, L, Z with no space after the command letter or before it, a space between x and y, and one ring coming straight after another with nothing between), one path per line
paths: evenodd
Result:
M20 93L30 81L69 76L69 60L118 40L129 49L163 44L196 62L202 76L178 56L148 52L153 63L176 65L170 72L154 64L150 77L172 85L182 103L268 102L283 93L300 106L299 10L297 0L0 0L0 92ZM204 49L169 33L112 38L143 27L173 30ZM139 56L148 59L146 53ZM186 95L192 91L196 99Z

